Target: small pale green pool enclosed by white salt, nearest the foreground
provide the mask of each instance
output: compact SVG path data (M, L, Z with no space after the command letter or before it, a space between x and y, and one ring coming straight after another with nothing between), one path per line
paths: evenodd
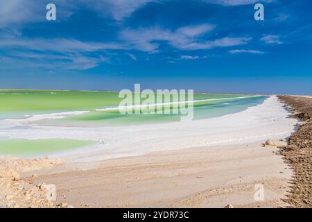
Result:
M0 139L0 155L48 155L93 143L76 139Z

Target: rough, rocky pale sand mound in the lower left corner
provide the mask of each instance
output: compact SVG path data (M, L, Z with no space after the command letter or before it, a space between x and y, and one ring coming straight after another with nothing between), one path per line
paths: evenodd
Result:
M65 207L57 206L53 200L47 198L48 185L34 185L31 179L20 178L21 173L52 167L62 162L62 160L49 160L48 157L32 160L0 157L0 208Z

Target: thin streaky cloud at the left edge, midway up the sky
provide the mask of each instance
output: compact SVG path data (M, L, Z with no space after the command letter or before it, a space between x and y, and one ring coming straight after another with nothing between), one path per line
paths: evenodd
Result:
M109 49L121 49L117 44L81 42L73 39L28 39L10 37L0 40L3 67L39 67L42 69L92 69L109 59L100 53ZM99 52L99 54L94 54ZM91 54L90 54L91 53ZM14 65L15 62L15 65Z

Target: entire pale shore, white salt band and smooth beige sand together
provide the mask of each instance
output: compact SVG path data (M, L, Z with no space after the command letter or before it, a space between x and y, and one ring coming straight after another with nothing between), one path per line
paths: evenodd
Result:
M106 128L32 126L3 137L89 139L87 148L51 155L64 164L25 173L75 207L279 207L292 171L277 148L295 130L276 96L243 112L191 122ZM254 198L263 186L264 199ZM0 194L1 195L1 194Z

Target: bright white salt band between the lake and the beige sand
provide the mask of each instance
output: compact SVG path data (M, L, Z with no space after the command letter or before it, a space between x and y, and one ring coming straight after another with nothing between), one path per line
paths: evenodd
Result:
M66 128L33 126L27 131L11 129L1 135L17 139L84 139L98 144L51 154L50 157L73 162L98 162L116 157L144 155L154 151L223 146L243 142L263 142L265 139L288 137L293 132L294 119L276 96L241 112L191 122L168 122L137 126L103 128Z

